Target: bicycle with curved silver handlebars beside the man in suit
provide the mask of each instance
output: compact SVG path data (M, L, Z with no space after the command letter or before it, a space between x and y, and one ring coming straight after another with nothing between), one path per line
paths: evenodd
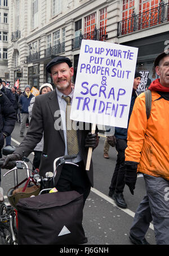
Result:
M11 151L2 152L3 154L11 154ZM72 159L77 157L77 155L65 155L63 157L56 158L54 160L54 172L46 172L46 177L42 177L39 175L38 170L35 170L32 172L32 170L29 169L28 164L26 162L30 162L30 160L26 157L23 157L23 160L16 161L16 166L12 168L10 171L6 172L4 177L14 171L14 184L15 187L10 189L7 193L8 202L10 202L10 205L5 204L5 200L3 198L3 189L1 190L1 201L0 201L0 238L2 244L6 245L17 245L17 231L18 231L18 225L17 225L17 207L16 204L19 201L19 198L12 200L12 192L19 187L21 184L23 184L25 181L26 183L29 183L30 185L33 183L35 184L38 189L38 193L30 193L29 196L38 196L39 194L43 193L49 193L51 189L55 187L55 176L57 173L57 168L61 166L62 164L73 164L77 166L77 164L72 162L66 162L67 159ZM30 162L31 163L31 162ZM32 163L31 163L32 164ZM2 163L0 163L0 166L2 166ZM17 170L26 170L26 179L18 184L18 176L17 176ZM29 172L32 172L30 174ZM22 193L22 192L21 192Z

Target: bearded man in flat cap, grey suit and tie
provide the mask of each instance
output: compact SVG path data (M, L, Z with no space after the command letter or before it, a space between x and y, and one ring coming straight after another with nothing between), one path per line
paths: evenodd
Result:
M23 154L27 157L32 153L34 147L41 141L44 132L40 175L45 177L46 172L53 172L54 160L67 154L70 155L72 154L71 150L74 150L73 153L75 152L77 157L72 159L72 162L76 163L78 167L64 164L62 170L57 172L56 188L60 192L76 190L83 194L85 202L90 188L93 186L92 162L90 170L86 171L88 147L94 149L99 143L99 138L97 133L91 134L91 125L89 130L77 129L75 133L71 131L74 135L72 149L70 148L69 138L66 136L68 133L66 130L66 100L69 100L69 104L72 103L74 92L71 85L72 62L69 58L56 57L48 63L46 71L51 74L56 89L35 98L28 132L14 154L6 157L3 168L10 168L11 161L20 160Z

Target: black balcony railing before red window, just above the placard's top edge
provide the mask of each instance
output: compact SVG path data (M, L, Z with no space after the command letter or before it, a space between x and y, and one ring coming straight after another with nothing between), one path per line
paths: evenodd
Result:
M75 37L72 39L72 50L79 49L81 47L81 43L83 39L86 40L96 40L96 41L105 41L108 38L108 34L106 34L106 27L94 29L94 31L86 34L80 34L79 37Z

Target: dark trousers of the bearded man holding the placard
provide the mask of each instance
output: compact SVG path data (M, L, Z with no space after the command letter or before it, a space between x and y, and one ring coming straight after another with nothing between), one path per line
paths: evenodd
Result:
M90 181L83 162L77 163L79 167L72 164L64 164L56 189L59 192L75 190L83 194L83 203L85 203L91 189ZM84 205L84 204L83 204Z

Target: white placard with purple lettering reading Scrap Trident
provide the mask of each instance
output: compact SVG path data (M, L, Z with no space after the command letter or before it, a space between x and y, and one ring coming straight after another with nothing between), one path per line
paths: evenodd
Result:
M127 128L138 49L82 40L70 118Z

